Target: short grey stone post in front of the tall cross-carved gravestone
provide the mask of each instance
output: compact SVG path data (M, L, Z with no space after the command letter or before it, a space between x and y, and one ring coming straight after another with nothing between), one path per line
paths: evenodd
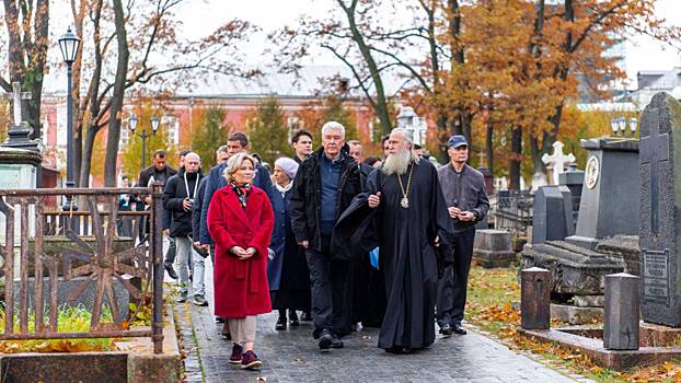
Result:
M603 347L638 349L638 277L620 272L605 276Z

